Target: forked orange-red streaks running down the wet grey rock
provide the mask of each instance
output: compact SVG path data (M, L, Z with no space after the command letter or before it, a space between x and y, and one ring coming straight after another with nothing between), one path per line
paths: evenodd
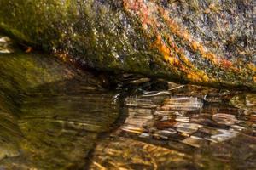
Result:
M149 39L155 37L155 41L152 42L151 47L156 48L163 56L163 59L172 65L172 70L182 71L187 74L189 80L195 82L217 82L214 77L209 77L205 71L197 69L195 65L191 63L188 57L184 54L183 48L178 48L177 43L172 40L171 36L174 35L183 40L183 45L189 47L196 54L200 54L203 59L210 61L212 67L242 73L242 70L237 68L235 63L208 51L207 48L203 46L202 42L197 41L191 36L188 30L179 26L175 20L172 20L169 12L165 8L162 8L151 1L123 0L123 2L125 11L137 15L137 18L143 25L143 30L148 32L148 26L150 26L149 28L152 33L148 33L146 36ZM161 21L158 21L158 17L164 20L165 26L168 26L168 29L171 32L170 35L159 31L159 27L162 26L162 24ZM255 72L255 65L249 64L246 65L246 67L249 67Z

